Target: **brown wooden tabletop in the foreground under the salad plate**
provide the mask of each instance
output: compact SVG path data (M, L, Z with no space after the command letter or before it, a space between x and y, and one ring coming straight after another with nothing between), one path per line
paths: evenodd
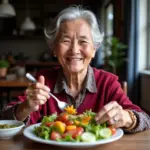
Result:
M63 147L51 146L33 142L21 133L13 139L0 141L0 150L66 150ZM73 148L72 148L73 149ZM118 141L99 145L91 148L84 148L85 150L150 150L150 130L124 135ZM71 150L71 148L67 148ZM74 148L74 150L76 150ZM79 148L78 148L79 150Z

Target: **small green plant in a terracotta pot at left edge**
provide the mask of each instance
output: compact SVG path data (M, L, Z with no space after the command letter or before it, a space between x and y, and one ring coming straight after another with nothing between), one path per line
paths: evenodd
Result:
M9 67L9 62L7 60L0 60L0 77L5 77Z

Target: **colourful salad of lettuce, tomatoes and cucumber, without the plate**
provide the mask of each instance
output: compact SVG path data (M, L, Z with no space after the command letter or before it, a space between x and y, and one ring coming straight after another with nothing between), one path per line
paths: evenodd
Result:
M34 134L45 140L70 142L95 142L115 134L116 129L107 123L97 124L96 113L86 110L77 115L73 106L68 106L60 115L44 116L40 126L34 128Z

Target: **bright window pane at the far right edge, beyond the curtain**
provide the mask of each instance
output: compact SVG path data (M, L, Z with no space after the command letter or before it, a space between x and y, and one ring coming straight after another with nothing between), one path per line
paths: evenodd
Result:
M138 71L150 69L150 32L148 33L148 17L150 17L148 5L149 0L139 1L139 37L138 37ZM150 26L149 26L150 30ZM149 49L149 50L148 50Z

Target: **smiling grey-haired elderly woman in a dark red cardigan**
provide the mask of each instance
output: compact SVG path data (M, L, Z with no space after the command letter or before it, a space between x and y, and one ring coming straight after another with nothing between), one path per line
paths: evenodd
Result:
M108 122L130 133L150 128L149 116L132 104L118 78L90 67L102 42L96 17L91 11L79 7L64 9L45 35L61 67L40 71L38 82L29 85L19 102L4 108L2 117L34 124L44 115L60 113L56 101L48 94L51 91L61 101L74 105L78 113L86 109L96 112L98 123Z

